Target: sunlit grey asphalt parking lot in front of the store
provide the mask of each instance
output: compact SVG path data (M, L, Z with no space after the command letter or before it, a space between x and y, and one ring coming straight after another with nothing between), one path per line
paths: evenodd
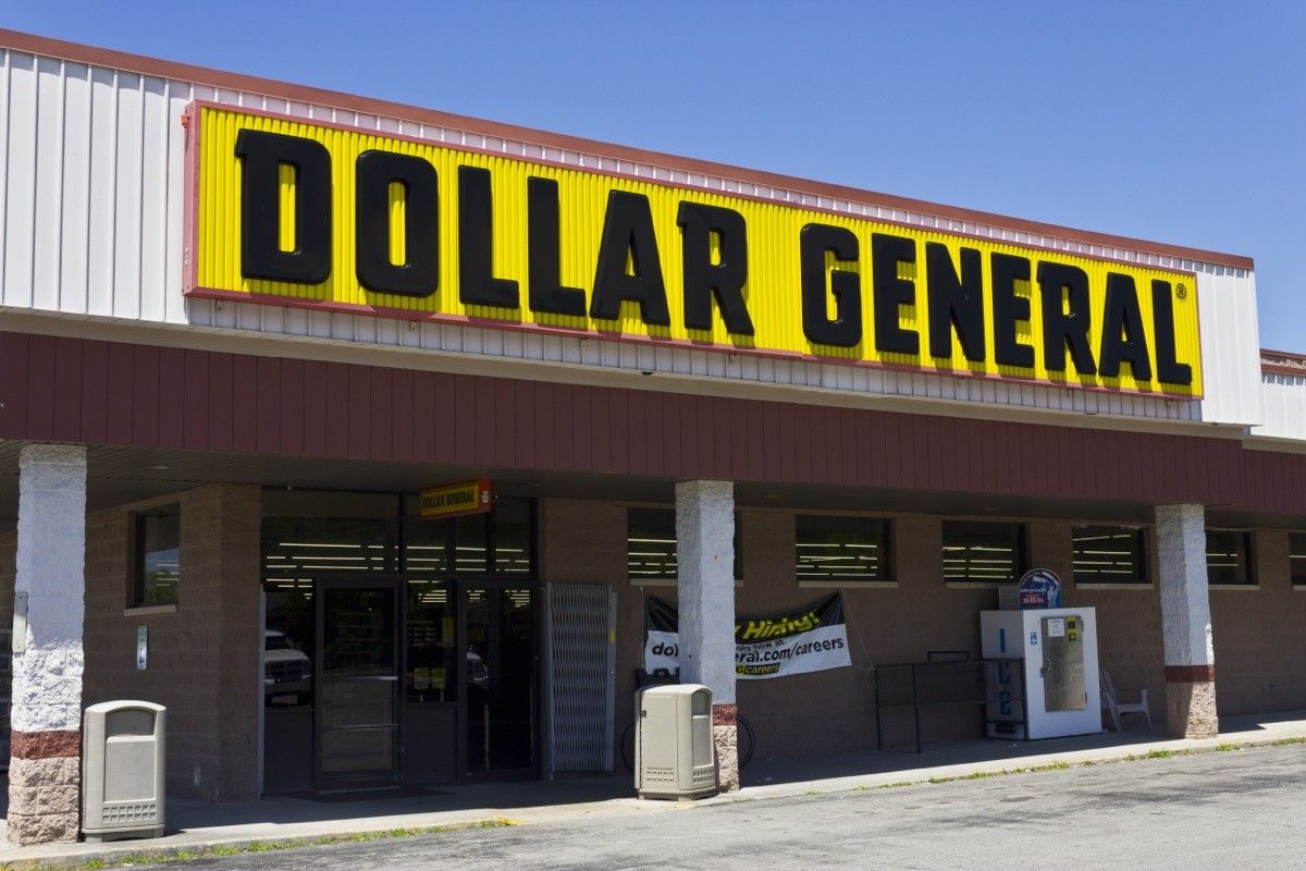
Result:
M199 859L188 868L1306 867L1306 746ZM176 867L176 866L174 866Z

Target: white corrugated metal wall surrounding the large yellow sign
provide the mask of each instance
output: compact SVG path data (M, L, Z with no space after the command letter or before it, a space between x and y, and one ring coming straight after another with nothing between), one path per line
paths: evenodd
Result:
M815 362L618 345L456 325L407 324L370 316L306 312L182 296L183 148L180 116L192 99L329 120L521 157L620 171L716 191L858 214L1199 273L1203 402L1067 390L904 373ZM1004 227L938 218L862 202L671 171L652 165L559 151L528 142L376 118L88 67L18 51L0 54L0 303L119 324L165 324L266 337L363 343L552 362L580 371L657 372L760 385L794 385L863 396L929 397L966 404L1050 409L1170 420L1254 423L1256 398L1255 283L1246 270L1089 245ZM411 353L394 366L428 366ZM692 390L692 385L686 385ZM1303 432L1306 435L1306 432Z

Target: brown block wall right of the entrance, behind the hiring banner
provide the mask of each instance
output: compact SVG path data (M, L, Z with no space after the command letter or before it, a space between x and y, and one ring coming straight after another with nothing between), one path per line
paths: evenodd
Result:
M743 584L739 616L763 616L810 605L829 590L799 588L794 578L794 512L742 509ZM616 731L632 718L633 673L641 665L644 594L675 601L673 586L632 586L626 578L624 507L584 500L543 500L541 571L546 581L610 584L618 592ZM999 518L985 518L999 520ZM845 586L850 669L776 680L742 680L739 712L752 723L757 752L810 755L875 747L870 663L916 662L929 650L980 654L978 612L996 607L991 588L949 588L942 580L943 520L893 518L896 589ZM1155 533L1147 531L1151 578L1139 588L1076 586L1068 520L1033 520L1028 526L1029 564L1054 569L1064 581L1066 605L1097 612L1101 666L1122 692L1147 688L1153 721L1165 718L1165 656L1156 584ZM1288 578L1288 538L1256 535L1260 588L1212 590L1216 674L1224 714L1306 709L1306 590ZM982 734L978 708L926 712L926 740ZM889 713L885 743L912 739L906 712Z

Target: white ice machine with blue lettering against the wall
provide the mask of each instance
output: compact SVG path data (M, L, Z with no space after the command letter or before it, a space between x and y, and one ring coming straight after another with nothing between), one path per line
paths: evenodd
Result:
M1102 731L1091 607L981 611L990 738ZM1017 661L1017 667L1004 663ZM1013 663L1012 663L1013 665Z

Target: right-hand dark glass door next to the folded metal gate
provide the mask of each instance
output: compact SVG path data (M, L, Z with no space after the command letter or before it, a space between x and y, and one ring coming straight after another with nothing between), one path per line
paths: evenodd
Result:
M535 590L462 586L468 774L535 770Z

